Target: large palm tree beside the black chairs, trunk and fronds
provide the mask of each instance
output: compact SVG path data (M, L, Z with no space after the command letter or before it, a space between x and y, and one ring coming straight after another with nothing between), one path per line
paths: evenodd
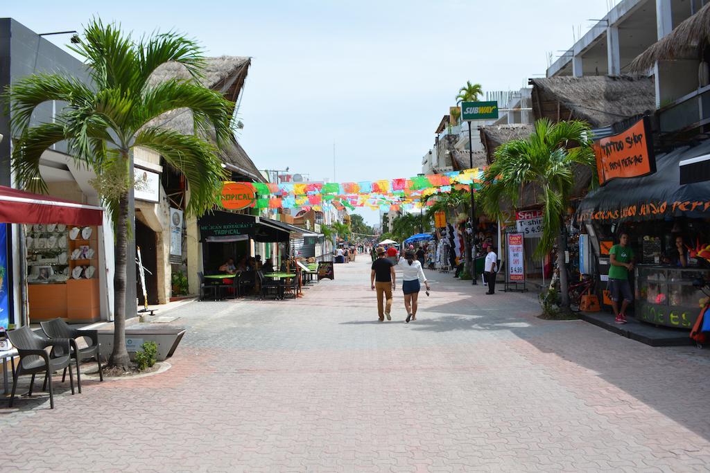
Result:
M23 187L43 191L40 155L54 143L67 140L74 160L97 174L92 182L109 209L116 235L114 277L114 350L109 365L127 367L126 248L132 240L129 190L133 187L131 150L158 152L185 176L190 201L186 212L199 216L212 208L222 187L224 171L217 148L233 139L234 103L197 83L204 58L195 41L177 33L133 40L114 23L93 19L84 38L71 47L84 58L92 84L60 74L34 74L13 84L8 95L15 136L13 169ZM195 80L150 82L165 62L185 66ZM47 101L64 102L53 123L30 125L33 111ZM154 126L163 113L185 108L192 112L195 135ZM131 218L132 220L132 218ZM133 262L131 262L133 264Z

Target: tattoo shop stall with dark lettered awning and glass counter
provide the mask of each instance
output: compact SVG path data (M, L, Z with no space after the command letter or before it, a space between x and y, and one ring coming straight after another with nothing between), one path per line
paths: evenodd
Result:
M635 317L689 330L706 301L710 280L710 181L684 184L682 163L710 154L710 142L655 156L655 172L613 179L583 199L575 220L580 272L591 274L608 300L609 250L621 233L635 254L631 277Z

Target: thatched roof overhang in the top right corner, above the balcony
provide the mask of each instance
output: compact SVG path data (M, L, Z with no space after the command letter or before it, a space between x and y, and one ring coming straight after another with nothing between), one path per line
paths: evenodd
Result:
M709 42L710 4L707 4L638 55L630 63L629 70L645 72L661 60L697 59L700 49Z

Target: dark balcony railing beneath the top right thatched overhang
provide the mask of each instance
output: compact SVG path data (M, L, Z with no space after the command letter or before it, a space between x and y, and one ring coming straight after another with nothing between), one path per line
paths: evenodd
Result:
M682 96L658 111L661 133L676 133L710 123L710 86Z

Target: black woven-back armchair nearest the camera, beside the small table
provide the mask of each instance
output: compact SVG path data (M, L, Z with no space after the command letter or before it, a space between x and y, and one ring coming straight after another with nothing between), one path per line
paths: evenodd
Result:
M12 394L10 396L10 407L15 400L17 380L22 374L31 374L30 390L28 396L32 395L32 388L35 384L35 374L45 373L45 384L49 382L49 404L54 408L54 389L52 385L52 373L60 369L69 368L69 384L74 394L74 374L72 372L72 359L70 357L70 341L68 338L44 338L34 333L27 325L7 333L8 338L16 347L20 362L17 365L12 380ZM47 348L52 347L50 352Z

